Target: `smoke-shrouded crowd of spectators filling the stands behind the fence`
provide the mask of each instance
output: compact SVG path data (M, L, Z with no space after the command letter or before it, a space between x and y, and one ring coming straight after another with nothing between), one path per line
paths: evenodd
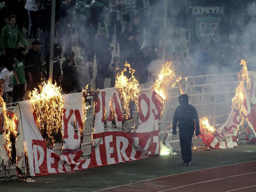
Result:
M140 84L153 82L166 60L184 76L236 73L242 58L254 62L254 0L169 0L167 24L164 2L56 0L51 36L52 0L0 0L0 89L5 102L28 99L29 91L48 79L52 41L52 81L64 93L94 82L103 89L105 78L113 87L125 61ZM205 11L206 6L215 8ZM221 15L221 22L210 23L215 31L210 26L202 32L207 20L191 30L195 15L211 11Z

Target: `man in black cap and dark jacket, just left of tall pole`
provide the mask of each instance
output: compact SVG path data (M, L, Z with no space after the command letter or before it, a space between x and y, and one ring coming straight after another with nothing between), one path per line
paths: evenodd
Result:
M34 88L38 88L38 84L43 77L41 55L39 53L41 44L38 40L33 41L32 48L28 50L25 56L26 95Z

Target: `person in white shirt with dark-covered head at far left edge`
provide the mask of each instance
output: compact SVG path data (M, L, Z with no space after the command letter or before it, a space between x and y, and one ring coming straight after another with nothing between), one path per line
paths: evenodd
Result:
M6 62L6 67L0 73L0 92L3 93L5 103L12 103L12 70L15 67L15 60L13 58L8 58Z

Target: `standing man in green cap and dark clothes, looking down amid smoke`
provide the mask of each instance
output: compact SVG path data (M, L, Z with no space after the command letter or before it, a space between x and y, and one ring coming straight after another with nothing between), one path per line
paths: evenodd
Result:
M95 40L97 62L97 76L95 78L96 89L103 89L105 78L109 78L111 74L108 67L112 59L111 51L113 51L114 48L110 46L107 35L108 30L106 28L101 28L100 35Z

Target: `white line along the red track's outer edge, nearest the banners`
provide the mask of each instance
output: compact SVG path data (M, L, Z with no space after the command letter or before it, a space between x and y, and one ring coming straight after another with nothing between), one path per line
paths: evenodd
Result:
M203 171L203 170L207 170L207 169L214 169L214 168L219 168L219 167L225 167L225 166L237 165L237 164L244 164L244 163L251 163L251 162L256 162L256 160L246 161L246 162L241 162L241 163L228 164L228 165L221 165L221 166L217 166L217 167L210 167L210 168L199 169L199 170L194 170L194 171L188 171L188 172L183 172L183 173L176 173L176 174L172 174L172 175L166 175L166 176L162 176L162 177L156 177L156 178L152 178L152 179L137 181L137 182L134 182L134 183L128 183L128 184L124 184L124 185L119 185L119 186L116 186L116 187L101 189L101 190L98 190L98 191L104 191L104 190L109 190L109 189L113 189L113 188L124 187L126 185L131 185L131 184L140 183L140 182L149 181L149 180L154 180L154 179L160 179L160 178L169 177L169 176L173 176L173 175L180 175L180 174L185 174L185 173L191 173L191 172ZM98 192L98 191L94 191L94 192Z

